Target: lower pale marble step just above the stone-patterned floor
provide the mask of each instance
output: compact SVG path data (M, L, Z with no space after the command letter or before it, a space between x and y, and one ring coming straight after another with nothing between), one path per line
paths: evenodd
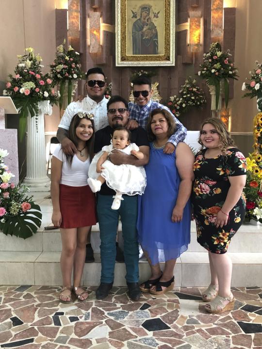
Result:
M262 253L229 253L233 261L232 286L262 285ZM60 252L0 252L0 285L62 284ZM164 263L162 264L164 267ZM82 285L97 286L100 280L100 256L84 266ZM150 269L145 259L139 261L140 281L147 280ZM115 286L124 286L125 264L115 263ZM207 252L185 252L174 269L176 286L208 286L210 270Z

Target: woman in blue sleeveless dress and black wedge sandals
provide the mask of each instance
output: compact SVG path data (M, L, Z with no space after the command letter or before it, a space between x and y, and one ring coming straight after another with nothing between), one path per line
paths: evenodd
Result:
M173 288L176 259L190 243L189 197L194 179L194 155L182 142L173 154L164 154L164 146L175 129L168 111L151 112L147 123L152 141L149 163L145 166L147 187L139 197L137 230L151 268L151 277L140 285L140 290L152 294ZM159 262L165 262L163 273Z

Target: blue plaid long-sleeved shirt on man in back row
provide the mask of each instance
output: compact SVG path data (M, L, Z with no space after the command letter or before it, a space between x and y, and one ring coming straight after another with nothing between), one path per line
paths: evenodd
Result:
M136 103L129 102L128 110L130 112L129 118L134 119L138 122L139 126L146 129L147 127L147 119L151 111L156 108L165 109L168 111L174 118L175 123L177 125L176 133L174 133L168 140L168 142L178 145L179 142L183 142L186 137L187 129L180 123L180 121L175 117L174 114L163 104L158 103L150 99L150 101L144 107L139 107Z

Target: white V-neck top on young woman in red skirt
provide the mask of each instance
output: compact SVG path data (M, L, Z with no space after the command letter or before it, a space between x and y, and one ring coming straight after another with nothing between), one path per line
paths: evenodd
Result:
M53 152L53 156L63 162L60 184L70 187L83 187L87 185L88 170L90 159L81 161L76 155L73 157L71 167L66 162L66 155L61 148L61 144L57 144Z

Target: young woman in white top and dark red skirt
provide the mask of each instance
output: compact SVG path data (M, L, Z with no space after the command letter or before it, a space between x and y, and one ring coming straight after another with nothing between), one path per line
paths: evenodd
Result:
M95 195L87 185L88 169L94 154L93 119L91 113L75 114L69 127L69 139L75 144L77 153L66 155L59 144L52 158L52 223L60 227L62 238L60 263L63 288L59 299L63 303L72 301L72 292L79 301L88 297L87 291L80 285L87 233L90 226L97 222Z

